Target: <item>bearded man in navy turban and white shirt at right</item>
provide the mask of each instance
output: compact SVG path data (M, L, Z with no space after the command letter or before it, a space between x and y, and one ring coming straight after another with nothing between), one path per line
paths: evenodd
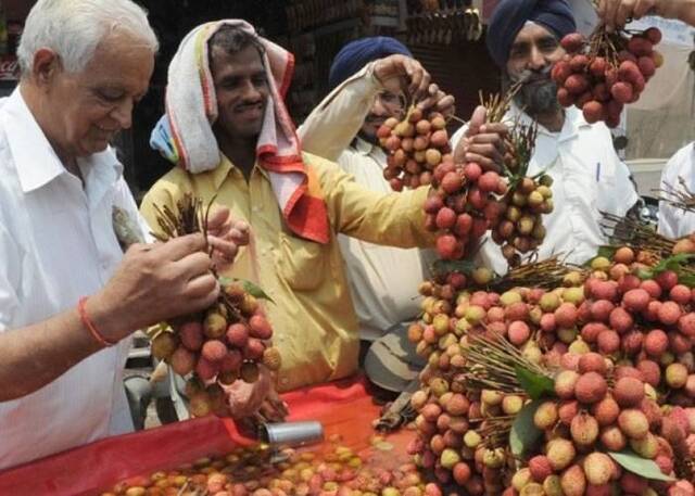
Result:
M607 242L601 212L622 217L639 196L608 128L587 124L581 111L563 109L557 101L551 71L566 56L560 39L574 30L566 0L502 0L490 18L486 44L502 71L503 87L523 81L505 120L539 124L528 173L545 171L554 180L555 209L544 216L547 232L539 256L564 254L568 262L584 263ZM466 142L462 132L452 139L457 148ZM495 271L506 271L494 243L484 243L480 257Z

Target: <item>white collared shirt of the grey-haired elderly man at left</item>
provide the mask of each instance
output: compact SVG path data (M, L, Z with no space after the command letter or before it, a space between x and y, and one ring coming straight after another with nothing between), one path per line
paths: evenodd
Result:
M137 207L111 150L62 165L20 90L0 107L0 332L75 308L100 290L123 252L112 225ZM142 226L142 224L140 224ZM130 340L53 382L0 403L0 469L132 430L123 386Z

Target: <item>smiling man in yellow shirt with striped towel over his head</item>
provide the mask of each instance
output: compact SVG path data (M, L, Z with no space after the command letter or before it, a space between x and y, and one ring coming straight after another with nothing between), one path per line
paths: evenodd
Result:
M191 192L251 225L250 245L226 276L256 282L275 302L265 310L282 356L279 391L356 371L358 325L338 233L402 247L433 243L424 228L427 188L371 192L300 151L281 101L290 68L291 55L247 23L189 34L169 66L167 115L153 132L153 144L180 167L154 185L141 208L156 229L154 205L174 208ZM421 69L381 75L392 76L427 89Z

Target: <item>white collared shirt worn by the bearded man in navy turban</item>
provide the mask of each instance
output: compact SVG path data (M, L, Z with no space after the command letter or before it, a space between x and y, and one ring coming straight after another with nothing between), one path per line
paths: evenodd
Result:
M506 122L532 119L513 105ZM452 138L455 145L465 128ZM539 259L563 254L570 263L583 264L596 255L606 237L601 230L599 212L623 216L639 196L630 181L630 170L612 147L610 131L603 123L587 124L576 107L565 110L565 124L559 132L539 125L530 176L545 171L553 182L555 209L543 216L547 236L539 247ZM501 247L490 236L480 250L480 262L497 274L507 271Z

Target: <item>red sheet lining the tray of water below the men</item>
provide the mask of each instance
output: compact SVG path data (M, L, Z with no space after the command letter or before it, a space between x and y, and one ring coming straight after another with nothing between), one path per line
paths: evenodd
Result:
M340 381L283 395L288 420L319 420L326 437L340 434L342 444L359 450L375 434L371 421L379 408L359 380ZM383 463L405 462L409 433L391 436L393 452ZM206 417L148 431L105 438L0 472L1 496L75 496L99 494L134 475L169 469L197 458L222 455L252 441L242 437L228 419Z

